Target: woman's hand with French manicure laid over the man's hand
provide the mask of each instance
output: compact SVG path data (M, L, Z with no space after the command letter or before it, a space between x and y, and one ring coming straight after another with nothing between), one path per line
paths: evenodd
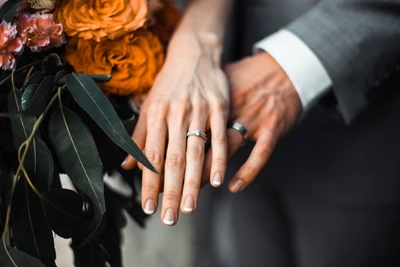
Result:
M160 173L143 171L143 210L156 211L164 172L161 220L173 225L179 206L184 213L196 210L201 184L205 142L198 136L187 138L188 131L211 130L214 160L208 175L216 177L216 186L225 175L229 89L220 69L221 45L214 36L191 38L189 33L174 38L169 47L132 138ZM123 168L135 164L128 157Z

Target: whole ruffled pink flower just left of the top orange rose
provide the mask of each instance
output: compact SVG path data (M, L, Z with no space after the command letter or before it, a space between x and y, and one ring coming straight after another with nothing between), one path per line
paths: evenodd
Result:
M60 47L66 43L63 27L52 14L23 14L17 21L19 36L33 52Z

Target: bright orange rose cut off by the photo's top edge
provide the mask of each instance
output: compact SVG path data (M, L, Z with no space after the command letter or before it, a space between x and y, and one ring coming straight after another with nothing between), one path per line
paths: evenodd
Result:
M100 42L142 27L147 11L147 0L63 0L54 11L54 19L67 35Z

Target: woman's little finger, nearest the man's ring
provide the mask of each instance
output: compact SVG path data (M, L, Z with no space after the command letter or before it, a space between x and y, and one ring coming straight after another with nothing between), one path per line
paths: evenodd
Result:
M227 118L223 108L217 107L215 111L210 115L211 146L213 148L210 182L214 187L219 187L223 183L228 161Z

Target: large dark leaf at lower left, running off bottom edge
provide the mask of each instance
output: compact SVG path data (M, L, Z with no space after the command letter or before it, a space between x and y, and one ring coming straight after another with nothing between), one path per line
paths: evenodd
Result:
M29 173L35 184L39 179ZM53 234L42 207L42 201L29 187L25 179L21 179L15 190L13 202L12 232L13 240L19 250L38 258L46 266L55 266L55 249Z

